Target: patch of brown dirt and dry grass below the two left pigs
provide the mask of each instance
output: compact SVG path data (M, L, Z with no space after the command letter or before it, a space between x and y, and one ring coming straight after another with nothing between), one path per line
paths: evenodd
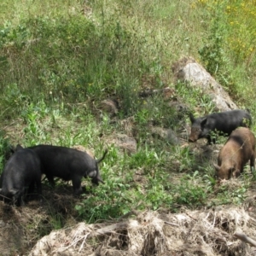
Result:
M74 207L81 200L73 196L72 186L54 189L43 184L44 199L26 201L14 207L0 201L0 255L26 255L51 230L78 223ZM40 236L40 237L39 237Z

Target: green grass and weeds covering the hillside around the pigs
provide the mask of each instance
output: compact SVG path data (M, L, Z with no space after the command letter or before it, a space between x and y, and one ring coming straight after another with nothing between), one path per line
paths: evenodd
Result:
M86 4L85 4L86 3ZM253 177L241 187L216 191L211 160L189 147L152 136L150 125L180 128L189 118L161 95L139 92L171 87L198 114L214 110L203 91L173 79L172 63L191 55L241 108L250 108L256 79L253 1L15 0L0 9L0 166L9 143L52 143L94 148L101 157L99 187L74 206L89 223L131 210L178 211L241 203ZM133 117L137 153L123 154L104 137L125 132L101 108L120 102L116 119ZM253 131L255 125L253 126ZM60 226L57 216L54 226Z

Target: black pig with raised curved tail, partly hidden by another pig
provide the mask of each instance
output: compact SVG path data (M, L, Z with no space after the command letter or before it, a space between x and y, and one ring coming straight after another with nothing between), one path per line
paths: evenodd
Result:
M108 151L105 151L100 160L95 160L86 152L74 148L66 148L52 145L38 145L30 147L36 152L44 168L44 174L52 185L55 184L54 177L61 177L63 180L72 180L73 192L79 195L82 192L82 177L90 177L96 185L102 181L98 169Z

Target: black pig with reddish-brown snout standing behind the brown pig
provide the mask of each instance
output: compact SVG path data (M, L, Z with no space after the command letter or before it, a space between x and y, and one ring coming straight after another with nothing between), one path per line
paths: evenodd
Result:
M248 110L230 110L220 113L210 113L205 117L195 119L193 114L189 114L191 121L191 133L189 142L195 143L198 139L205 137L207 143L216 143L215 138L211 137L212 132L220 131L225 136L236 130L237 127L249 127L252 117Z

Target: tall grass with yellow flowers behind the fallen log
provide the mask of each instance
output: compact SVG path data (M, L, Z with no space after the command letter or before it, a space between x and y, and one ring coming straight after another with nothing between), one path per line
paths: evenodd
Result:
M209 34L204 40L201 60L238 104L255 103L255 3L254 1L195 1L206 14Z

